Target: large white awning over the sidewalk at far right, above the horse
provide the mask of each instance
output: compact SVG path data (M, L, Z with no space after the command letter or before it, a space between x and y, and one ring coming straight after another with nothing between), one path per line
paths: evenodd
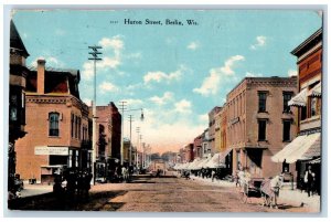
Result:
M311 135L298 136L290 144L284 147L279 152L271 157L274 162L293 163L297 160L311 159L307 155L310 150L314 149L316 142L320 139L320 133L314 133Z

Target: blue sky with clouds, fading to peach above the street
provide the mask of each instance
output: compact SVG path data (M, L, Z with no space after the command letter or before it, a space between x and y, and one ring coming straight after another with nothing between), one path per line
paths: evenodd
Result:
M166 19L183 25L166 25ZM13 21L30 53L26 64L44 57L46 66L79 70L86 103L93 98L87 47L103 46L97 105L127 101L130 109L143 108L142 123L139 112L130 113L132 141L139 126L154 151L192 142L207 127L206 114L245 76L295 75L290 51L322 25L321 14L309 10L15 11Z

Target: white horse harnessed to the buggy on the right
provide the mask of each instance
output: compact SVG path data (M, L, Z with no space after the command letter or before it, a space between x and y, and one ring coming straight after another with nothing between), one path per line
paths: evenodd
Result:
M284 175L278 175L274 178L266 179L263 181L260 192L263 197L263 205L269 205L270 208L277 207L277 197L284 182Z

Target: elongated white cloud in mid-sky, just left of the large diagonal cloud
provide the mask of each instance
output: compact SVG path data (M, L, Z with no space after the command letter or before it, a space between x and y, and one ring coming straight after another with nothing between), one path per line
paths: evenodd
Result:
M161 72L161 71L148 72L143 76L143 82L145 82L145 84L148 84L150 82L161 83L161 82L166 81L167 83L170 83L172 81L179 81L185 70L186 70L186 67L184 65L181 65L179 70L177 70L172 73L169 73L169 74Z

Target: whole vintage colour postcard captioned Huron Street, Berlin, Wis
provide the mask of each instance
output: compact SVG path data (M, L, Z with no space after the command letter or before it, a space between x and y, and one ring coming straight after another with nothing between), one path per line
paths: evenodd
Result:
M322 21L12 10L9 211L321 212Z

